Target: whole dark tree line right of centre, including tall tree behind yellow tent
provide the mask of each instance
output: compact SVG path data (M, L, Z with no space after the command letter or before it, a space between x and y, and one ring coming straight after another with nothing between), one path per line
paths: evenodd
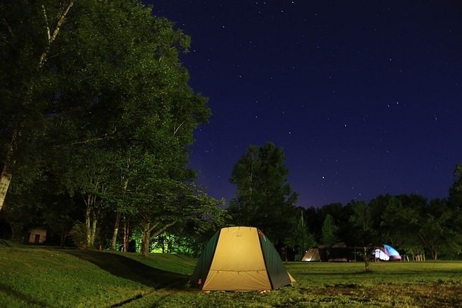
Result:
M462 165L456 165L449 197L378 195L369 202L295 207L282 148L250 146L237 162L231 183L237 197L228 211L238 225L254 225L284 248L287 260L300 260L307 248L344 242L347 246L391 244L400 253L460 258L462 253ZM288 252L292 254L287 254Z

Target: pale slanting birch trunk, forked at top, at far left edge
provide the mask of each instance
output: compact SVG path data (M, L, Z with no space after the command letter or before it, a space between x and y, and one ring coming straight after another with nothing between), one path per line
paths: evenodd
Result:
M46 62L50 47L52 43L55 41L57 35L59 34L59 31L61 30L62 25L64 25L64 21L66 20L66 15L67 13L69 13L69 10L73 6L73 2L74 0L70 0L67 3L67 5L63 6L62 10L59 11L57 18L56 18L57 23L56 23L54 30L50 29L50 25L48 25L48 16L46 14L45 6L42 5L43 18L45 19L45 23L46 23L47 45L45 46L45 49L41 52L41 56L40 56L40 59L38 60L38 65L36 69L38 70L41 69L43 67L43 64ZM31 100L32 100L31 97L32 97L32 87L31 85L29 85L29 89L27 90L25 94L25 99L22 104L23 105L31 104ZM14 146L15 146L15 139L18 136L20 136L20 131L18 130L18 127L16 127L13 130L11 144L8 145L8 153L6 155L6 160L3 164L3 170L1 172L1 177L0 177L0 211L3 208L6 194L8 193L8 188L10 186L11 179L13 178L11 167L14 165L14 155L15 155Z

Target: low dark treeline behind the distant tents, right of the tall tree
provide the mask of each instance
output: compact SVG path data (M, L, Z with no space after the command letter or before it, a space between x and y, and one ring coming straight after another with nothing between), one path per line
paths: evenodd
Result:
M449 198L444 199L386 194L367 203L351 201L300 208L314 241L293 249L300 256L309 246L318 244L332 246L344 242L351 247L390 244L401 254L424 254L434 260L460 258L461 192L454 186L450 192Z

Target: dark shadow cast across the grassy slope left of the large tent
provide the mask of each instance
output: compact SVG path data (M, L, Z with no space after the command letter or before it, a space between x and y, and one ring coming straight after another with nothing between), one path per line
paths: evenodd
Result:
M186 289L189 276L163 271L137 260L105 251L59 250L92 262L114 276L137 281L151 288Z

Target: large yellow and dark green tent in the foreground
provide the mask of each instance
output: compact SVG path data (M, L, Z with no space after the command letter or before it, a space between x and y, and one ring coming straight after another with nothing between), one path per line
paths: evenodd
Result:
M273 290L293 281L260 230L230 227L211 237L197 260L190 284L202 290Z

